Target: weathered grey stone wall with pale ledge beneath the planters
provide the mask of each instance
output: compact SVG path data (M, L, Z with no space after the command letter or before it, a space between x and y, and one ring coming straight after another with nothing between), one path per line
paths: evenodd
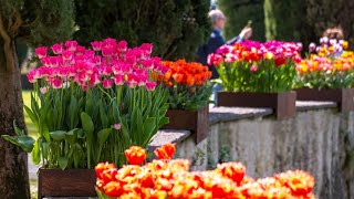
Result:
M298 114L277 121L270 109L214 108L209 137L180 140L176 157L191 160L194 170L218 163L242 161L247 175L259 178L303 169L315 177L319 198L354 198L354 113L335 104L298 104Z

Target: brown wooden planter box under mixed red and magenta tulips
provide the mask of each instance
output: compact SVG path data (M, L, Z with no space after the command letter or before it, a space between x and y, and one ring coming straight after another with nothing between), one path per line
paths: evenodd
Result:
M218 106L228 107L270 107L277 118L284 119L296 113L296 93L218 93Z

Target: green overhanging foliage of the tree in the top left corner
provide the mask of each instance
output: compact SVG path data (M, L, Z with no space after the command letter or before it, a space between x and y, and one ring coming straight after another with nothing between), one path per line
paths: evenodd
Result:
M18 20L17 29L8 30L10 36L30 45L61 42L74 31L73 0L0 0L0 4L4 22Z

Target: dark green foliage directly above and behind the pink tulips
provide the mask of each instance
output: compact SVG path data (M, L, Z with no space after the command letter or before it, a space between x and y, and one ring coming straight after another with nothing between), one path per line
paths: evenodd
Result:
M76 0L74 38L80 43L103 38L132 45L154 44L154 54L192 60L210 33L209 0Z

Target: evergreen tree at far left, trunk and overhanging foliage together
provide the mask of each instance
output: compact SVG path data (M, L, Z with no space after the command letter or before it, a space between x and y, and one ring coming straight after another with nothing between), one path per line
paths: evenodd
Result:
M0 0L0 135L24 129L15 41L49 45L71 36L72 0ZM0 137L0 196L30 198L27 153Z

